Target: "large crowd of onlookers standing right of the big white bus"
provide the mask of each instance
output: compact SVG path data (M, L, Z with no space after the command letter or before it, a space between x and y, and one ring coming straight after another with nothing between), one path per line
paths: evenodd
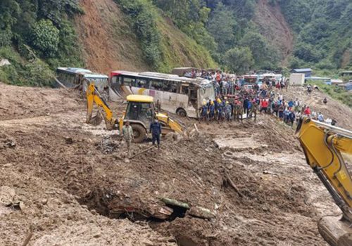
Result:
M320 122L335 124L334 119L324 119L321 112L314 112L308 105L302 105L298 98L284 98L283 89L287 89L287 79L263 79L261 86L246 86L241 77L212 72L206 79L213 82L214 101L203 101L199 109L199 120L203 122L243 120L244 117L256 120L257 113L273 115L280 121L294 127L301 115L308 115ZM311 91L308 91L311 93ZM325 98L323 103L327 103Z

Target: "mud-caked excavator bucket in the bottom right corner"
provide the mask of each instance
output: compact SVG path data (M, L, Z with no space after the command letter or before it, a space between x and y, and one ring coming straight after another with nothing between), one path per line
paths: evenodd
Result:
M332 246L351 246L352 228L341 216L324 216L318 223L322 238Z

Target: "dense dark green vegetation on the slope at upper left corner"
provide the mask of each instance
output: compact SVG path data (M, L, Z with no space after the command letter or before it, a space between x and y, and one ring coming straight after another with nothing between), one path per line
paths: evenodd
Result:
M82 65L73 15L82 13L77 0L1 0L0 81L45 86L51 68Z

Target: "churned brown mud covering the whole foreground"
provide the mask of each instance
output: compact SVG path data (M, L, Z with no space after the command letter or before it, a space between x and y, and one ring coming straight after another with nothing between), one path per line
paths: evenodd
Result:
M270 116L244 124L184 119L199 134L165 137L161 151L127 161L114 132L84 124L77 91L0 89L16 97L0 108L0 245L20 245L29 228L29 245L326 245L316 221L337 207L294 131ZM34 107L39 101L48 103ZM133 144L132 153L149 146ZM199 207L209 209L208 219Z

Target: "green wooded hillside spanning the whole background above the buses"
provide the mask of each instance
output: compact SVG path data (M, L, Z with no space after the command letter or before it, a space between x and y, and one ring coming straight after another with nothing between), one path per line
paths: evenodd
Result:
M89 1L85 1L86 6L96 8ZM116 19L123 18L122 24L122 20L111 24L120 35L114 39L104 37L106 49L107 42L120 44L116 47L122 51L127 42L134 43L130 47L138 47L130 60L111 61L123 64L123 69L134 63L133 57L139 57L138 64L145 63L160 72L170 72L177 66L222 67L237 73L309 66L325 74L337 74L352 67L349 0L102 0L101 3L110 6L108 18L103 16L105 10L96 9L96 13L104 13L102 20L113 20L114 15ZM120 12L113 12L111 5ZM94 45L87 52L89 40L82 39L98 27L108 27L87 27L89 32L85 33L81 23L79 36L77 22L82 16L92 15L92 9L89 13L84 9L78 0L0 1L0 60L8 59L11 63L0 67L0 81L45 86L51 84L55 67L103 66L106 54L111 51L104 52L99 59L101 66L92 66L94 57L101 52L92 52ZM99 25L99 20L95 22ZM111 30L101 33L109 34ZM127 35L128 41L123 43L121 39ZM103 48L99 47L99 51ZM133 49L128 52L133 53ZM87 53L92 56L86 56ZM123 56L111 59L116 58ZM98 72L120 68L110 65Z

